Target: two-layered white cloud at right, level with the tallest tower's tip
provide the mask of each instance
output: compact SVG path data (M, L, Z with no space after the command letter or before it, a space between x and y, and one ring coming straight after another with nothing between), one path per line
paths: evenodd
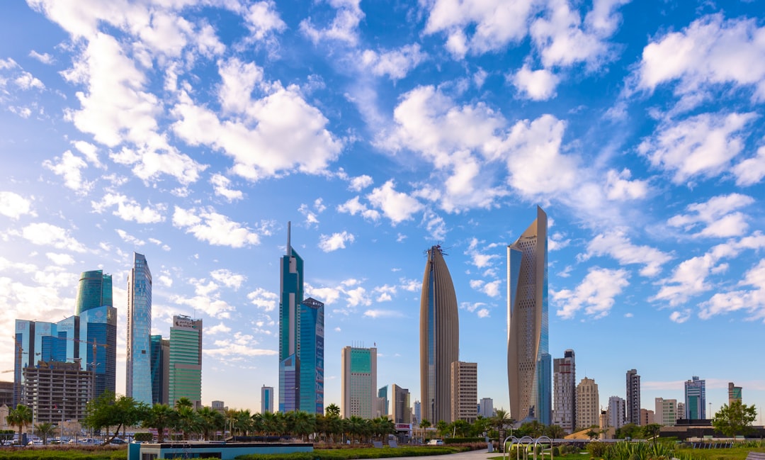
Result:
M743 194L712 197L705 203L688 204L689 214L678 214L667 220L672 227L692 230L699 223L705 227L696 237L738 237L747 231L746 216L734 210L754 204L754 198Z

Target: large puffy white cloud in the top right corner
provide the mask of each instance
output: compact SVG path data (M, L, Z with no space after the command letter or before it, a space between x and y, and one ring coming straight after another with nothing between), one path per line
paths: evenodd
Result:
M757 20L708 15L688 28L664 34L643 49L638 86L655 90L679 80L675 91L685 94L711 85L754 86L755 99L765 99L765 28Z

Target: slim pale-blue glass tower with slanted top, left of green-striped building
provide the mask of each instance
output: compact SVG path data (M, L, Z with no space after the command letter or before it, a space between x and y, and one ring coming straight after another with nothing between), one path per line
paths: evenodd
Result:
M151 271L143 254L133 253L127 317L125 396L151 404Z

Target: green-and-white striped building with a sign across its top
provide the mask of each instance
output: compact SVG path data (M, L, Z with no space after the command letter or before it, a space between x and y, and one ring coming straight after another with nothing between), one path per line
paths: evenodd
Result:
M202 406L202 320L173 317L170 328L168 403L188 398L194 407Z

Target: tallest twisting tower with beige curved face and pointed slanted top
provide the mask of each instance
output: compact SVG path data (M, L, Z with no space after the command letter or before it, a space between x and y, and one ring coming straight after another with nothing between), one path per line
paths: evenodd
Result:
M507 383L513 419L549 417L548 343L547 214L538 206L536 219L507 246Z

